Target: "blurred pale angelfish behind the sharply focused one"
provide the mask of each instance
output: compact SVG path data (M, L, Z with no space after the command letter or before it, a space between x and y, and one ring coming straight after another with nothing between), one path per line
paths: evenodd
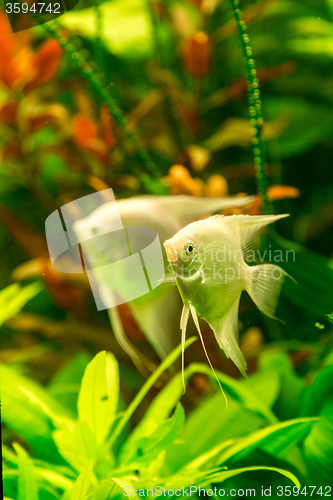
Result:
M113 230L115 214L120 214L125 227L148 226L154 228L161 242L171 238L193 220L228 207L240 207L252 202L253 196L226 198L194 198L192 196L138 196L129 199L104 203L89 216L77 220L74 231L80 241L87 240L84 246L89 260L96 265L108 262L111 248L94 245L94 237ZM89 239L92 245L89 245ZM165 256L164 256L165 257ZM116 260L116 256L112 256ZM166 261L166 257L165 257ZM167 262L166 262L167 265ZM97 277L102 299L112 293L112 283ZM117 291L117 290L116 290ZM151 342L161 359L177 345L177 328L182 302L176 287L158 287L143 297L128 303L141 330ZM125 336L117 307L109 309L109 317L114 333L133 360L138 354ZM139 356L141 356L139 354Z

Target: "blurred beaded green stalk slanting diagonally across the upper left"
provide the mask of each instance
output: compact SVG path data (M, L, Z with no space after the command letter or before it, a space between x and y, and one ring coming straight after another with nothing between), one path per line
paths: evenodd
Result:
M84 57L75 49L74 45L68 42L65 37L59 35L57 30L52 27L51 23L45 23L42 26L50 36L56 38L59 41L60 45L69 55L69 57L71 58L77 69L87 78L87 80L95 90L96 94L108 106L113 118L124 130L126 136L133 144L138 158L142 161L142 163L146 167L147 173L149 173L152 177L158 178L159 172L157 166L151 159L149 153L140 144L140 141L137 138L136 134L127 125L122 111L118 107L115 100L110 96L109 92L104 88L100 77L94 73L91 66L87 63Z

